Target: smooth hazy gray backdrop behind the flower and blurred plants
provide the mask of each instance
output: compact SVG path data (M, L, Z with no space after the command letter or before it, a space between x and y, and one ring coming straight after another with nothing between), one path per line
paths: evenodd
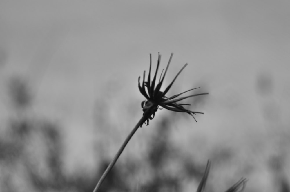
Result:
M283 0L2 0L1 133L19 116L11 79L26 81L33 102L21 118L57 123L66 174L94 174L95 151L112 158L142 116L137 78L148 71L149 53L155 67L160 52L164 68L173 52L165 85L189 65L169 95L199 86L193 93L210 95L187 100L205 114L196 115L197 123L178 115L170 141L200 165L213 161L209 180L217 191L241 177L249 178L248 191L277 191L276 178L290 179L289 10ZM131 154L142 158L159 119L171 113L159 110L138 130L120 162ZM214 166L223 149L233 157ZM272 173L276 158L283 169ZM143 182L142 174L134 179L132 186Z

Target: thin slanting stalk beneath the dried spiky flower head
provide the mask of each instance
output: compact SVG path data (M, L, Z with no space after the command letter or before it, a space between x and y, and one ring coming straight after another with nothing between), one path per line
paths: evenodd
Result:
M121 155L121 153L123 152L124 148L126 147L127 143L130 141L131 137L134 135L134 133L137 131L137 129L144 123L144 121L148 119L148 117L146 115L143 115L142 118L139 120L139 122L137 123L137 125L135 125L135 127L133 128L133 130L130 132L130 134L126 137L124 143L122 144L122 146L120 147L120 149L118 150L118 152L116 153L115 157L113 158L113 160L111 161L111 163L108 165L106 171L103 173L102 177L99 179L95 189L93 192L97 192L99 191L99 189L101 188L101 185L103 183L103 181L105 180L106 176L108 175L108 173L112 170L112 168L114 167L116 161L118 160L119 156Z

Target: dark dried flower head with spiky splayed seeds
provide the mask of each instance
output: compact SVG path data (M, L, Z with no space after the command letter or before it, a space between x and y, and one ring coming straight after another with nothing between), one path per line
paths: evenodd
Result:
M149 67L149 74L148 74L148 79L147 81L145 81L145 71L143 73L143 82L142 82L142 86L140 85L140 76L138 78L138 86L139 86L139 90L142 93L142 95L144 95L144 97L146 98L145 101L142 101L141 106L143 108L143 115L146 116L146 120L144 121L144 123L147 121L147 125L149 124L149 119L153 119L155 116L155 112L157 111L157 109L159 108L159 106L171 110L171 111L175 111L175 112L185 112L188 113L189 115L191 115L193 118L196 113L201 113L202 112L195 112L195 111L190 111L187 110L183 107L183 105L190 105L190 104L181 104L181 103L177 103L178 101L181 101L183 99L189 98L189 97L195 97L198 95L206 95L208 93L200 93L200 94L195 94L195 95L189 95L186 97L180 97L180 98L176 98L180 95L182 95L183 93L186 93L188 91L197 89L197 88L193 88L187 91L184 91L182 93L173 95L171 97L166 97L165 94L169 91L169 89L171 88L172 84L174 83L175 79L178 77L178 75L181 73L181 71L186 67L187 63L182 67L182 69L180 69L180 71L177 73L177 75L174 77L174 79L172 80L172 82L167 86L167 88L162 92L160 91L160 88L162 86L164 77L166 75L166 72L168 70L169 64L171 62L173 53L171 53L170 59L168 61L167 67L165 69L164 75L162 76L163 70L161 72L160 78L159 78L159 82L156 82L156 76L157 76L157 72L159 69L159 65L160 65L160 60L161 60L161 55L158 53L158 61L157 61L157 68L155 71L155 75L153 77L153 80L151 81L151 54L150 54L150 67ZM157 84L155 86L155 84ZM147 92L146 89L147 88ZM199 88L199 87L198 87ZM194 118L194 120L196 121L196 119Z

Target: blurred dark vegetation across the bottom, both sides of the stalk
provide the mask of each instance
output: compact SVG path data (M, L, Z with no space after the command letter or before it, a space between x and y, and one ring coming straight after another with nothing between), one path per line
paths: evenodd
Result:
M13 116L7 121L7 127L0 137L0 185L1 191L92 191L96 181L108 166L110 159L105 158L106 144L96 141L96 158L100 162L95 175L77 172L73 176L64 171L64 133L57 122L46 117L29 115L33 106L33 97L28 83L20 77L12 78L8 85ZM198 101L193 101L196 104ZM97 102L97 107L105 105ZM105 108L103 108L105 109ZM109 125L105 116L109 111L97 114L97 123ZM186 154L184 149L171 142L172 125L180 116L169 113L158 121L152 129L151 138L142 159L130 156L126 163L121 161L106 178L101 191L195 191L203 174L205 163ZM96 130L98 132L98 130ZM132 142L131 142L132 143ZM100 145L100 146L97 146ZM134 143L133 143L134 145ZM202 144L201 144L202 145ZM130 147L130 145L128 145ZM191 146L188 146L189 148ZM200 147L202 150L202 147ZM198 157L199 153L195 152ZM211 158L215 166L233 158L231 152L220 150ZM273 183L277 192L288 192L289 183L283 175L281 157L274 158L269 168L273 170ZM219 163L220 162L220 163ZM210 174L209 174L210 175ZM233 180L244 175L238 175ZM136 178L142 178L138 182ZM209 176L206 191L216 191L215 182ZM133 180L132 180L133 179ZM249 178L251 181L251 178ZM190 185L192 183L192 185ZM191 187L190 187L191 186ZM225 190L225 189L224 189ZM246 190L247 191L247 190Z

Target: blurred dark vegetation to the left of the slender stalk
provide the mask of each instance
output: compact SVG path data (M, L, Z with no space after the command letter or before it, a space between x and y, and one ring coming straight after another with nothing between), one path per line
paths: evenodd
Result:
M63 171L61 127L30 114L33 100L25 79L12 78L8 94L14 115L0 137L1 191L89 191L92 178Z

